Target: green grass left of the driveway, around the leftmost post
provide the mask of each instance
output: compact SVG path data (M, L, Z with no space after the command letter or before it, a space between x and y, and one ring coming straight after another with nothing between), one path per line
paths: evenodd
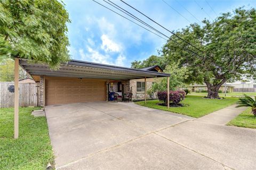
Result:
M14 140L13 108L0 108L0 169L45 169L53 163L53 151L45 117L19 109L19 139Z

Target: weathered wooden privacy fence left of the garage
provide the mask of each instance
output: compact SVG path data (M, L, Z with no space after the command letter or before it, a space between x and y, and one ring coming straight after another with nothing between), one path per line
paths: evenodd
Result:
M14 93L8 87L13 82L0 82L0 108L14 107ZM38 84L19 83L19 106L38 106Z

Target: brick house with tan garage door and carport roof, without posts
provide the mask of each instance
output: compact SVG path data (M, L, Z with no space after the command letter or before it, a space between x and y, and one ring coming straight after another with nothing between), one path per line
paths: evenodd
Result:
M108 101L111 91L119 94L134 93L134 99L137 96L141 99L145 78L148 87L152 84L150 79L170 77L158 66L133 69L71 60L60 64L59 70L51 70L46 64L19 60L20 66L39 82L39 106Z

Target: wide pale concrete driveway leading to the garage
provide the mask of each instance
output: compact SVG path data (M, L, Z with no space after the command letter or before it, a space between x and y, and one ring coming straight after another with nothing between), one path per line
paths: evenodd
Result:
M256 169L256 131L134 103L46 107L57 169Z

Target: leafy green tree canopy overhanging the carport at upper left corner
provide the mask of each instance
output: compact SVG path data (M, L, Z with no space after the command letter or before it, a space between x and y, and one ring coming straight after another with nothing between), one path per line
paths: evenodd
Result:
M57 0L0 1L0 59L32 59L58 68L70 59L67 22Z

